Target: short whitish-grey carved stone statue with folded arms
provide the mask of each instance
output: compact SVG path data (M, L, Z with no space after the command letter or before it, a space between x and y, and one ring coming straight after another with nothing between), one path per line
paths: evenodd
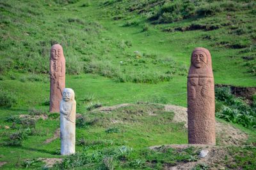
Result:
M64 89L60 103L61 155L75 153L76 148L76 101L72 89Z

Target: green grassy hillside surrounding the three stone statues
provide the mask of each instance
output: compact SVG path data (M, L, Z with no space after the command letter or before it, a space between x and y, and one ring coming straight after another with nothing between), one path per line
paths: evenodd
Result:
M45 163L38 158L62 158L58 136L44 143L60 127L59 113L48 113L49 51L55 43L63 46L66 87L74 89L81 113L78 153L58 168L163 169L196 162L200 148L148 150L188 143L184 124L152 103L186 106L186 76L196 46L210 50L215 83L255 87L256 13L250 1L180 2L0 1L3 168L40 169ZM236 128L248 139L225 148L221 166L253 169L255 160L248 155L256 153L256 104L227 93L219 91L216 115L242 125ZM121 103L137 104L93 111Z

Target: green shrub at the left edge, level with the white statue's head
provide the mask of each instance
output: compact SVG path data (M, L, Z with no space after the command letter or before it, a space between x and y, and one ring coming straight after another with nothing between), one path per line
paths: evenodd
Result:
M0 89L0 107L12 107L17 103L17 99L12 92Z

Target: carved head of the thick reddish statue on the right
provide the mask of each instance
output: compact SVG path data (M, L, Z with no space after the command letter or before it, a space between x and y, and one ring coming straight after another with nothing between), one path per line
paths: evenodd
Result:
M193 50L189 74L212 76L212 60L209 50L202 47Z

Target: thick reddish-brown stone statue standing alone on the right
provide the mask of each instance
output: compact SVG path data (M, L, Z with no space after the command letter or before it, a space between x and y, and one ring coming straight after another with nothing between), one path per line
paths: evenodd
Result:
M215 101L209 50L195 48L188 73L188 142L215 145Z

